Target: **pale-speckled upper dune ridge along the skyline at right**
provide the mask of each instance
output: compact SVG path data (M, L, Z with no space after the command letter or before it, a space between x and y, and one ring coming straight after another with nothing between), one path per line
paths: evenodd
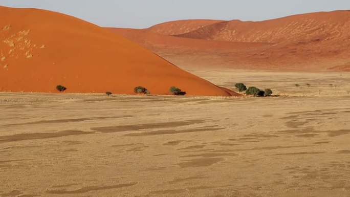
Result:
M259 22L231 20L178 35L198 39L243 42L345 40L350 35L350 11L317 12Z

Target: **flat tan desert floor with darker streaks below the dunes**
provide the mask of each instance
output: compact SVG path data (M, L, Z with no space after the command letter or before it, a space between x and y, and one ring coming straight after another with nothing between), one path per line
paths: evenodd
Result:
M192 73L280 97L1 93L0 196L350 196L350 73Z

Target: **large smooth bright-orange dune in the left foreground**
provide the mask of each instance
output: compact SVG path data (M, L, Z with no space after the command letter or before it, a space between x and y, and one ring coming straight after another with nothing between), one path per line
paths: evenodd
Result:
M0 90L134 94L145 86L169 94L229 96L126 38L80 19L37 9L0 7Z

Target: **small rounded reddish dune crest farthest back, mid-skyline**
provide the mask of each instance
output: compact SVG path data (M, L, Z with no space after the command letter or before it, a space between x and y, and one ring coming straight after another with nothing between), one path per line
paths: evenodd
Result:
M148 30L164 35L178 35L195 31L205 26L220 23L222 21L224 20L177 20L152 26L148 28Z

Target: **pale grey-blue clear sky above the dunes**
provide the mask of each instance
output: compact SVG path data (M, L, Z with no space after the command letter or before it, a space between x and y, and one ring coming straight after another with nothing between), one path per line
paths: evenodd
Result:
M350 10L350 0L0 0L72 15L103 27L147 28L180 19L266 20Z

